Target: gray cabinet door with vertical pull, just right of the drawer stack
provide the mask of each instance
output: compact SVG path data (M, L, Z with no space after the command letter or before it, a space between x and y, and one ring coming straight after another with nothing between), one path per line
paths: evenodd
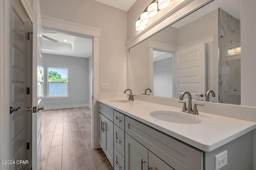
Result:
M125 170L146 170L147 164L148 149L125 133Z

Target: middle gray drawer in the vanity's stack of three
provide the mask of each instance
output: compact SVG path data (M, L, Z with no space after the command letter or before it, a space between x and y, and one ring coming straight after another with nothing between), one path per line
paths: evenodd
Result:
M118 152L120 152L120 154L124 157L124 131L115 124L114 124L114 147L116 147Z

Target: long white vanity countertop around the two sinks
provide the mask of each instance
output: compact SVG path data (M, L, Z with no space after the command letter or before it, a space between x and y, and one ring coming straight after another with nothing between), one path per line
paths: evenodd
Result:
M152 111L176 111L184 113L181 112L182 108L144 102L141 100L130 101L128 103L115 103L110 102L111 100L127 99L102 99L98 100L98 102L112 107L125 115L205 152L217 149L256 129L256 122L200 112L200 107L203 106L198 106L199 115L193 115L200 118L202 120L201 123L180 124L156 119L150 116L149 113Z

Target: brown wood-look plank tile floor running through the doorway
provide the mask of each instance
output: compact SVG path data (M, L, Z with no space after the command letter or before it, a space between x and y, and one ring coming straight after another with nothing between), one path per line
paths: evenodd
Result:
M42 111L41 170L112 170L102 149L92 149L89 107Z

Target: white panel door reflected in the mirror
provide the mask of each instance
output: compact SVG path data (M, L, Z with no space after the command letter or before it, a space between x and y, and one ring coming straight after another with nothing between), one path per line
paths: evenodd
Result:
M205 44L200 43L175 53L175 97L184 91L190 92L192 99L205 94ZM186 96L185 96L186 97Z

